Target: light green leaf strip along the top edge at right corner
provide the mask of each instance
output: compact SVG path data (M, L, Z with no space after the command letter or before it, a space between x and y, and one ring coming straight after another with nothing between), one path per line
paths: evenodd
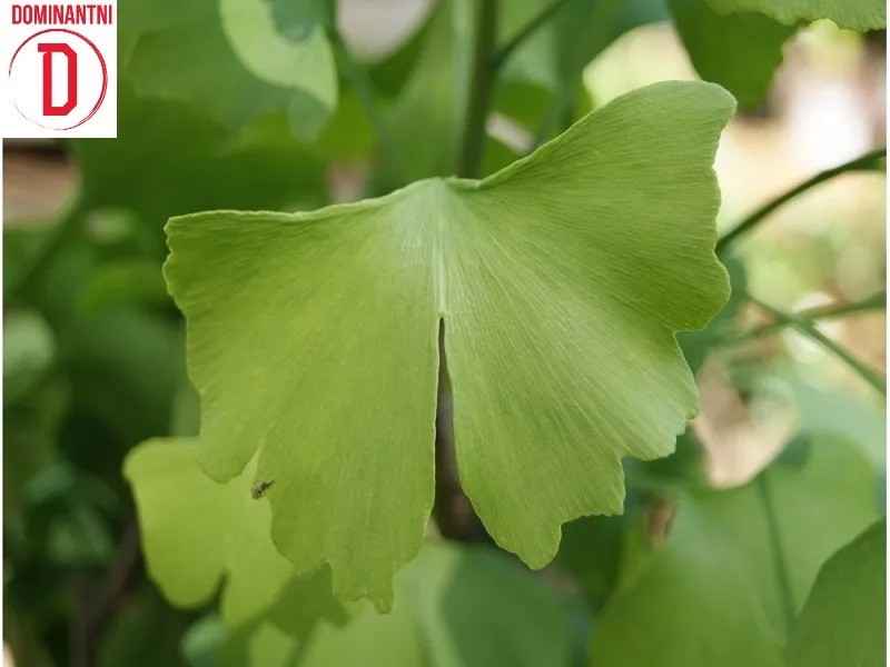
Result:
M883 0L708 0L720 13L756 11L793 26L831 19L841 28L879 30L887 27Z

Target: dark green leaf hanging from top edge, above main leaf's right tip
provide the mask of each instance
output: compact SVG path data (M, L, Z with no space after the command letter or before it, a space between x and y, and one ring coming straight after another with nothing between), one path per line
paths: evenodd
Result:
M722 16L706 0L671 0L671 11L702 79L725 87L742 107L760 103L794 28L759 13Z

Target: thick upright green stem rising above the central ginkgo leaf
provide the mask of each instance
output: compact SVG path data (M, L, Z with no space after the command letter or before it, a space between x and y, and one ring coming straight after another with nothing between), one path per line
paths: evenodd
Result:
M485 122L495 81L492 53L497 37L497 0L475 0L476 24L473 48L473 76L467 100L466 125L457 176L476 178L485 149Z

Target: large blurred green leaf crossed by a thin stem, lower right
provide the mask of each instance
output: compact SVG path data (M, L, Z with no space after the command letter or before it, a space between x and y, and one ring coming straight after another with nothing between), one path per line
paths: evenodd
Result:
M632 534L619 593L597 619L592 664L783 665L785 606L799 609L821 564L877 518L870 462L846 440L811 447L805 465L765 472L789 600L759 488L764 481L683 494L663 544L653 544L649 530Z

